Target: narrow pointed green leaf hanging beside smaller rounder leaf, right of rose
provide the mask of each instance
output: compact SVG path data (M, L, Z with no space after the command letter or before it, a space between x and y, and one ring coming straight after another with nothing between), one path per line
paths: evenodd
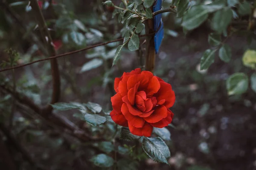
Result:
M209 66L214 62L215 58L215 51L212 49L207 49L204 51L203 57L201 58L200 62L200 70L205 70L209 68Z

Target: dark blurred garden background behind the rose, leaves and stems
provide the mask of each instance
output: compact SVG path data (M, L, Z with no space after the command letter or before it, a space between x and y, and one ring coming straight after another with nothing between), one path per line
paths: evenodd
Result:
M202 1L202 0L201 0ZM200 2L201 2L200 1ZM58 54L85 48L96 43L122 37L122 24L112 18L113 9L102 5L103 0L41 1L41 10ZM168 6L171 0L165 0ZM199 0L193 0L198 3ZM52 4L51 4L52 3ZM119 6L120 0L113 0ZM6 6L8 4L8 6ZM154 75L170 83L176 94L173 127L167 127L171 140L167 142L170 166L152 161L142 155L134 164L123 164L121 170L254 170L256 169L256 95L251 89L241 95L228 96L227 78L236 72L251 74L242 64L244 51L249 47L247 37L235 34L226 43L232 48L229 63L218 57L207 70L200 71L200 58L209 48L209 25L183 33L181 20L171 13L163 14L165 35L156 57ZM17 65L44 58L33 36L40 31L28 1L7 0L0 3L0 60L8 63L6 48L17 51ZM144 34L143 31L141 34ZM35 37L35 36L34 36ZM141 43L144 41L140 39ZM41 41L38 38L38 41ZM60 102L95 102L111 111L113 80L124 71L143 67L145 47L139 51L122 51L120 61L112 67L118 45L113 42L87 51L58 58L61 74ZM2 65L3 66L3 65ZM10 65L8 65L10 66ZM1 85L12 85L37 105L46 105L52 94L50 62L38 62L15 71L1 72ZM9 124L13 101L8 89L0 88L0 120ZM22 100L22 99L21 99ZM58 113L71 123L88 128L90 134L99 130L73 117L76 111ZM33 170L35 164L48 170L111 169L90 164L94 147L76 138L45 127L47 119L35 114L16 101L12 127L7 129L28 152L32 163L9 140L4 128L0 130L0 169L9 170L4 155L7 150L14 169ZM51 125L50 125L51 126ZM84 127L85 126L85 127ZM87 127L90 126L90 127ZM109 127L112 128L112 127ZM133 142L125 143L133 146ZM2 148L1 148L2 147ZM130 147L126 147L126 149ZM3 152L2 152L3 150ZM2 154L3 153L3 154ZM138 151L140 153L140 150ZM110 153L111 154L111 153ZM10 160L9 160L10 161ZM12 164L12 163L11 163ZM11 170L11 169L10 169Z

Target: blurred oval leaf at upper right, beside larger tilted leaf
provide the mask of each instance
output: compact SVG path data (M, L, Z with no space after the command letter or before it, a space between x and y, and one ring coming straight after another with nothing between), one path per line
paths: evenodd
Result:
M212 18L212 29L221 33L227 26L230 24L232 20L233 12L230 8L225 8L215 12Z

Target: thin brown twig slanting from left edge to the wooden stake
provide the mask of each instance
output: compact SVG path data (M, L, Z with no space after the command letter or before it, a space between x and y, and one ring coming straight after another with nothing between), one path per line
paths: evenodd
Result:
M153 35L153 34L154 34L154 32L152 32L152 33L150 33L150 34L144 34L144 35L141 35L141 36L139 36L139 37L146 37L146 36L150 36L150 35ZM119 38L119 39L116 39L116 40L112 40L112 41L108 41L108 42L104 42L104 43L92 45L92 46L90 46L90 47L82 48L82 49L80 49L80 50L71 51L71 52L68 52L68 53L65 53L65 54L60 54L60 55L48 57L48 58L45 58L45 59L38 59L38 60L36 60L36 61L29 62L29 63L23 64L23 65L17 65L17 66L15 66L15 67L2 69L2 70L0 70L0 72L7 71L7 70L12 70L12 69L15 69L15 68L24 67L24 66L27 66L27 65L32 65L32 64L34 64L34 63L41 62L41 61L47 61L47 60L49 60L49 59L55 59L55 58L67 56L67 55L70 55L70 54L79 53L79 52L81 52L81 51L89 50L89 49L91 49L91 48L95 48L95 47L98 47L98 46L102 46L102 45L106 45L106 44L109 44L109 43L112 43L112 42L117 42L117 41L122 41L122 40L124 40L124 39L123 39L123 38Z

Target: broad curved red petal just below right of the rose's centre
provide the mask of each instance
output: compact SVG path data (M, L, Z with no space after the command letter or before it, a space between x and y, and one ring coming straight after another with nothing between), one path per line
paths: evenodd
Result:
M157 107L157 109L148 117L144 117L145 121L148 123L156 123L166 118L167 116L167 108L164 105Z

